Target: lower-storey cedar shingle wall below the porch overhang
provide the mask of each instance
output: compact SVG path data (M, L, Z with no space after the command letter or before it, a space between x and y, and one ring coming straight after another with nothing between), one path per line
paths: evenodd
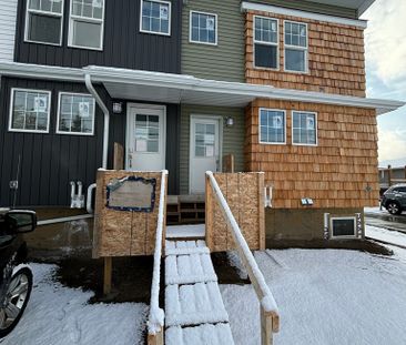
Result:
M260 108L286 110L286 144L258 143ZM316 146L292 144L292 110L317 112ZM265 172L273 206L375 206L378 200L377 126L372 109L256 100L246 109L246 171Z

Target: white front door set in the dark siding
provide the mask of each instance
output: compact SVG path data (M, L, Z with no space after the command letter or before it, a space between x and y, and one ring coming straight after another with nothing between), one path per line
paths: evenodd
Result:
M126 120L126 170L165 169L165 106L129 104Z

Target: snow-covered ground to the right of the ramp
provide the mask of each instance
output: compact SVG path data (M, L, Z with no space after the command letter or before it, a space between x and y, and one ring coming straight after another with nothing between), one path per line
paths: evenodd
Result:
M280 307L275 344L406 344L406 251L395 253L256 252ZM235 343L258 345L260 308L253 287L221 285L221 292Z

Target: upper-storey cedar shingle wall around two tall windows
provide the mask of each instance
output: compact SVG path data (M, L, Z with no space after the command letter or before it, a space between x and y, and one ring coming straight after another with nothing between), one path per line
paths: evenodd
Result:
M254 14L278 19L278 70L254 68ZM308 73L285 72L284 20L307 23ZM365 97L364 55L364 30L362 28L270 12L248 11L246 13L245 78L248 83Z

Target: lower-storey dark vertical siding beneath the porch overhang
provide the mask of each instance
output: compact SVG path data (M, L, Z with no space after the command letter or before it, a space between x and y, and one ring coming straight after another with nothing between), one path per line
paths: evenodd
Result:
M12 88L50 90L50 132L18 133L8 131L9 103ZM17 205L69 205L70 181L82 181L87 189L95 182L97 170L102 165L104 118L97 106L94 135L61 135L55 133L58 93L60 91L88 93L84 84L55 81L1 79L0 95L0 206L12 204L13 192L9 182L17 179L21 158ZM108 108L112 100L101 85L97 91ZM136 102L136 100L134 100ZM125 109L125 102L124 102ZM166 169L170 171L169 193L179 193L179 129L180 110L166 104ZM109 165L112 168L113 143L125 148L126 115L110 118Z

